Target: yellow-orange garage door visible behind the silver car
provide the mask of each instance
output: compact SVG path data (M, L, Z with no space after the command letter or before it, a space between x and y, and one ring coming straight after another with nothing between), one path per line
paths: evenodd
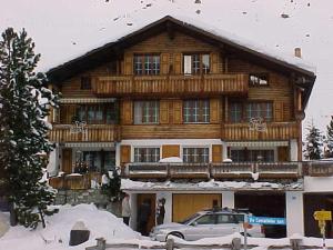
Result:
M172 196L172 221L179 222L193 213L222 207L219 193L176 193Z

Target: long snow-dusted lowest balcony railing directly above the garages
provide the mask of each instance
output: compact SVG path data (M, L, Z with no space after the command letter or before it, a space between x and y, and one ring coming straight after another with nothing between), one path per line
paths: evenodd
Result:
M302 162L130 163L130 179L297 179Z

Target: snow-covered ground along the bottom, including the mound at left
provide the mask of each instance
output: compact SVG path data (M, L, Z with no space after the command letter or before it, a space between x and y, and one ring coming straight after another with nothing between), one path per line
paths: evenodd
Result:
M127 227L121 218L117 218L110 212L98 210L93 204L79 204L75 207L59 207L59 213L47 217L47 228L39 227L37 230L29 230L23 227L12 227L0 238L0 249L2 250L82 250L85 247L95 246L95 238L103 237L107 243L131 243L139 246L163 246L162 242L151 241L140 233ZM90 229L89 241L69 247L70 230L77 221L83 221ZM178 243L185 244L229 244L233 238L240 238L240 234L230 234L220 238L206 238L198 241L186 242L174 238ZM303 238L306 246L322 246L322 239ZM249 238L249 244L259 246L256 249L266 250L270 246L289 246L290 239L263 239ZM333 247L333 239L326 240L327 247Z

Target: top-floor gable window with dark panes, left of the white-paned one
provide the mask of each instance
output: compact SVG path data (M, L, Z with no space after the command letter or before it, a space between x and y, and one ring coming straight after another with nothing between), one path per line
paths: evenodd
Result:
M135 54L134 73L137 76L160 74L160 56Z

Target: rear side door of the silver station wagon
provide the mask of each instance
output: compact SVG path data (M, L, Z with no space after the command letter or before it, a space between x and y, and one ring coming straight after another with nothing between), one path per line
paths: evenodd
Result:
M215 233L219 236L228 236L234 232L239 232L239 223L235 221L235 218L231 213L218 213L216 214L216 224Z

